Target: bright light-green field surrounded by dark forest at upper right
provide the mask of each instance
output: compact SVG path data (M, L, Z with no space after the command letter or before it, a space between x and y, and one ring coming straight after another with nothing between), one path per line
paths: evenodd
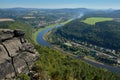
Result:
M94 25L97 22L102 22L102 21L111 21L113 20L112 18L103 18L103 17L91 17L83 20L82 22Z

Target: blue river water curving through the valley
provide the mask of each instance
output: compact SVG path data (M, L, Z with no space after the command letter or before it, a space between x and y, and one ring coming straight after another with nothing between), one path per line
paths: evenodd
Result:
M36 38L37 42L42 46L52 47L52 45L50 43L48 43L47 41L44 40L44 35L48 31L50 31L50 30L52 30L54 28L58 28L58 27L61 27L61 25L59 24L58 26L47 28L47 29L39 32L38 35L37 35L37 38ZM96 66L98 68L105 68L105 69L107 69L107 70L109 70L109 71L111 71L113 73L120 73L120 68L117 68L117 67L109 66L109 65L106 65L106 64L99 64L99 63L96 63L96 62L93 62L93 61L90 61L90 60L85 60L85 59L83 59L83 61L85 61L85 62L87 62L87 63L89 63L89 64L91 64L93 66Z

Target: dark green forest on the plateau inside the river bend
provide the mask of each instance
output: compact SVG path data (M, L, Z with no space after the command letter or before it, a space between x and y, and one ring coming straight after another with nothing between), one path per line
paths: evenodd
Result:
M88 25L74 20L56 30L56 34L70 40L78 40L97 46L120 49L120 23L115 21L98 22Z

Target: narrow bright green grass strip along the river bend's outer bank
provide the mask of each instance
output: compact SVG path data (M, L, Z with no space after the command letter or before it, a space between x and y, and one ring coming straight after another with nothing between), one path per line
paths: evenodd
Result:
M62 22L61 24L62 24L62 25L65 25L65 24L69 23L70 21L71 21L71 20L67 20L67 21L65 21L65 22ZM41 31L43 31L43 30L45 30L45 29L47 29L47 28L57 26L57 25L58 25L58 24L51 24L51 25L49 25L49 26L46 26L45 28L40 28L40 29L38 29L37 31L35 31L35 32L32 34L32 39L33 39L34 43L37 44L36 37L37 37L37 34L38 34L39 32L41 32Z

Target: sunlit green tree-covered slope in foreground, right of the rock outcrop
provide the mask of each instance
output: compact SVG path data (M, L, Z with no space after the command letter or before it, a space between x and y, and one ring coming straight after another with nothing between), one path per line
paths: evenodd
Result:
M45 80L119 80L118 74L95 68L81 60L62 54L59 51L36 46L40 59L35 62L35 79Z

